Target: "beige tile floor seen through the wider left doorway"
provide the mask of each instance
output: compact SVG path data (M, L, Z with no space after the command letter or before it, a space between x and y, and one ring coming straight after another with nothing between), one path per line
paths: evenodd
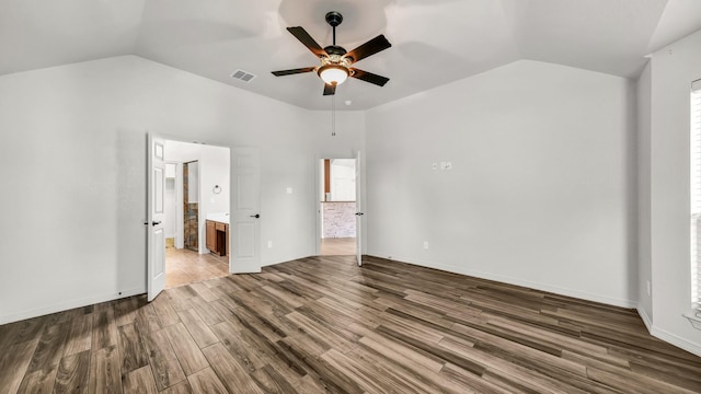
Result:
M229 262L226 256L200 255L184 248L165 248L166 289L227 275L229 275Z

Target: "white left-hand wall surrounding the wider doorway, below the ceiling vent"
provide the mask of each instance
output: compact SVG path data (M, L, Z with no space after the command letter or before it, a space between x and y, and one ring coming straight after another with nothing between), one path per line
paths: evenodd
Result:
M326 113L135 56L0 77L0 324L146 291L147 130L260 147L263 265L313 254L315 160L360 147L347 117L332 140Z

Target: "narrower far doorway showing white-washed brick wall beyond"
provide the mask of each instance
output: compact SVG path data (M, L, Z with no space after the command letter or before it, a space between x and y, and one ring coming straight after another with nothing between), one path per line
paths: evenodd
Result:
M319 255L356 254L356 160L319 161Z

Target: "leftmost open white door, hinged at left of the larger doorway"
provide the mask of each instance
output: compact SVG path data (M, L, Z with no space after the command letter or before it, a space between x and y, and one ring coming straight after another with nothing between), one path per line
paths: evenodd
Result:
M165 234L163 229L165 186L165 140L149 134L148 139L148 301L165 288Z

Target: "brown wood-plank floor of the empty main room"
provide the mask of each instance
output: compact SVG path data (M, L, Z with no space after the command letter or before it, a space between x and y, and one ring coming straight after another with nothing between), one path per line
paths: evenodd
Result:
M353 256L0 326L0 393L701 393L634 311Z

